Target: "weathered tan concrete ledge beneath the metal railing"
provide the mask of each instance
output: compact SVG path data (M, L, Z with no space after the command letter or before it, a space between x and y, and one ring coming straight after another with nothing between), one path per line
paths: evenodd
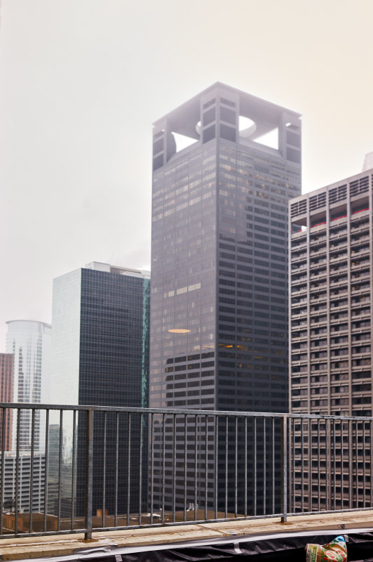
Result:
M68 556L81 549L107 547L141 547L170 544L192 540L216 539L230 535L272 535L277 532L318 531L323 529L373 528L372 511L352 511L341 514L289 517L286 523L280 518L266 518L224 523L175 525L172 527L94 532L92 540L85 541L83 534L49 535L0 540L1 560L24 560L43 556Z

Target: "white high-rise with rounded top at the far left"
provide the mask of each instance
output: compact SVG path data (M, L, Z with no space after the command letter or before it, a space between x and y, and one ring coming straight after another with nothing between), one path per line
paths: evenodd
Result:
M6 322L6 351L14 355L13 401L48 403L50 392L50 324L34 320ZM12 450L17 446L17 416L13 415ZM45 414L35 412L34 451L45 447ZM19 447L31 450L32 412L20 414Z

